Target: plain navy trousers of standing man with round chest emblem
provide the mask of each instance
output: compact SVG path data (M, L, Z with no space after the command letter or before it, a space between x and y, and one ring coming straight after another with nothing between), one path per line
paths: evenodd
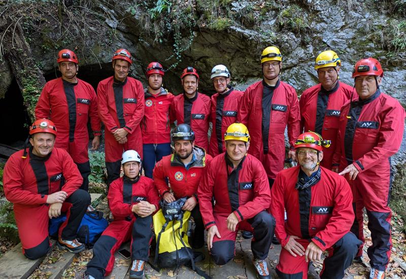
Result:
M143 166L146 177L152 178L152 170L155 162L159 162L163 156L171 154L171 143L166 144L144 144L143 145Z

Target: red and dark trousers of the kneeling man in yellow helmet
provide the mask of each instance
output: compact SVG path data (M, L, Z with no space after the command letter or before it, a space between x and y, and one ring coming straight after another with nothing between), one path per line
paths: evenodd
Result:
M241 221L235 231L230 231L227 229L226 222L228 215L221 214L214 217L221 238L216 235L213 238L213 247L210 251L213 261L218 265L224 265L234 257L235 238L238 230L254 233L254 238L251 240L251 251L254 259L266 259L274 235L275 218L266 211L262 211L251 219Z

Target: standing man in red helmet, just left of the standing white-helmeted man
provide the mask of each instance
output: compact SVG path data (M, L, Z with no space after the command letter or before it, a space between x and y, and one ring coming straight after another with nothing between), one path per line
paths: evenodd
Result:
M199 75L193 67L187 67L181 75L183 94L175 96L171 107L171 120L177 125L185 123L195 132L195 144L209 149L210 97L197 92Z

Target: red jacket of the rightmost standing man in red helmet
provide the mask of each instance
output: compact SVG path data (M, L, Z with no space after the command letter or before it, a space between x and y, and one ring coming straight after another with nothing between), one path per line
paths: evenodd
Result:
M341 111L333 165L340 165L341 171L354 162L360 183L388 187L390 156L399 150L405 117L400 103L380 90L367 100L347 103Z

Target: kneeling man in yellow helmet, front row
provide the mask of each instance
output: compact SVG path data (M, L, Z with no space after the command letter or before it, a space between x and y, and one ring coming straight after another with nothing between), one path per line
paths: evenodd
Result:
M275 219L265 211L270 204L266 172L258 159L247 154L250 135L244 124L231 124L224 141L226 152L209 163L197 191L201 216L208 230L208 249L214 262L224 265L234 257L238 230L251 231L258 278L270 278L266 258Z

